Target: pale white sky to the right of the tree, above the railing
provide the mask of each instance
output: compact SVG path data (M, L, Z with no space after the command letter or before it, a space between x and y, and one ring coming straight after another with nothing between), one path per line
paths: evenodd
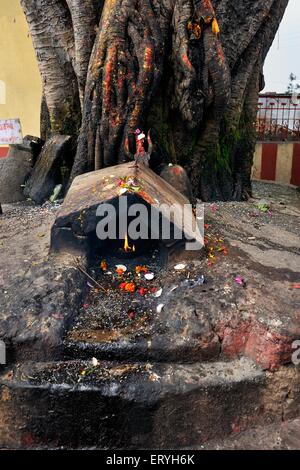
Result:
M293 72L300 83L300 0L289 0L279 33L265 62L264 92L285 92Z

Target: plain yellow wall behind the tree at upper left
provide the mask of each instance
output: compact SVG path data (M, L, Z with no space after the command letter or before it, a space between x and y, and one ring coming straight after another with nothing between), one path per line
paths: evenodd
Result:
M6 88L5 104L1 104L1 81ZM20 2L0 0L0 119L20 118L23 136L39 136L41 93L37 60Z

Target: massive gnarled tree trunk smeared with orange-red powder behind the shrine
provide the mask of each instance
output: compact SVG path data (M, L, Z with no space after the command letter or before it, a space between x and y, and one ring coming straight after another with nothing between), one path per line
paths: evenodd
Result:
M287 3L21 0L51 131L81 125L71 179L126 161L130 136L151 128L156 157L183 165L196 196L247 197L263 63Z

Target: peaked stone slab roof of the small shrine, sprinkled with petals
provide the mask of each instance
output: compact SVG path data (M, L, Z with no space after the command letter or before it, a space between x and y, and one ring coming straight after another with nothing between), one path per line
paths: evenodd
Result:
M122 186L123 182L125 187ZM192 212L190 219L183 220L185 206L190 207L189 200L150 168L144 165L135 167L130 162L87 173L74 179L52 228L52 251L64 250L63 243L58 240L64 232L58 229L71 228L81 237L95 233L100 220L96 217L99 205L110 203L117 207L122 196L128 198L128 205L142 203L157 208L160 216L170 221L171 227L176 227L182 233L183 240L194 239L195 220ZM170 207L174 210L170 211ZM165 245L171 246L178 241L172 237L172 233L171 228L171 238L168 240L162 239L160 233L157 237ZM75 246L70 247L66 243L65 251L69 252L70 249L72 253L76 251Z

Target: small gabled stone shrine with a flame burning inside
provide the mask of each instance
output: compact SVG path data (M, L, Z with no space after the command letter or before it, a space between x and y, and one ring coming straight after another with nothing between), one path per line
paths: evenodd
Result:
M88 257L98 248L138 254L152 242L170 248L195 239L195 219L184 218L190 207L188 199L143 165L82 175L58 213L51 251Z

